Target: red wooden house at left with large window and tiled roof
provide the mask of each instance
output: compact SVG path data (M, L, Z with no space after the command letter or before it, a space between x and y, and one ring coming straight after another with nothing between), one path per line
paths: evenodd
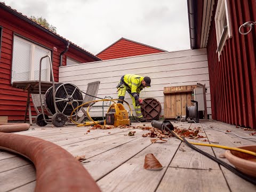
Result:
M0 15L0 116L8 116L9 121L24 118L27 97L12 82L38 79L41 57L51 55L57 82L59 66L100 60L4 3L0 3ZM42 79L50 80L47 67Z

